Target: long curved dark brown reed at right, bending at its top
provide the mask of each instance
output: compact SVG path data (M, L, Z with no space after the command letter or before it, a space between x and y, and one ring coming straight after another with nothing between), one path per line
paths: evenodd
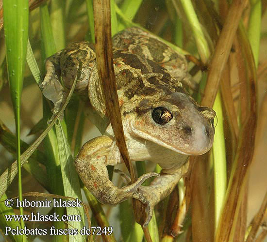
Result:
M247 92L241 96L248 100L247 117L240 131L238 148L235 155L234 166L227 188L224 209L217 228L216 241L233 241L238 222L238 213L246 192L249 168L254 151L256 130L256 70L250 43L242 27L238 30L239 42L242 43L242 51L247 61ZM242 110L243 111L243 110Z

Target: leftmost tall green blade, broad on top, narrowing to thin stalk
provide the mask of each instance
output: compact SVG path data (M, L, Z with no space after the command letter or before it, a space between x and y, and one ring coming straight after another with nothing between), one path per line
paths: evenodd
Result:
M17 137L18 198L22 200L21 165L20 165L20 103L23 75L27 51L29 5L28 1L4 0L4 33L7 49L7 66L11 99L15 114ZM23 214L23 208L19 208ZM21 220L24 228L24 221ZM22 236L22 241L27 241Z

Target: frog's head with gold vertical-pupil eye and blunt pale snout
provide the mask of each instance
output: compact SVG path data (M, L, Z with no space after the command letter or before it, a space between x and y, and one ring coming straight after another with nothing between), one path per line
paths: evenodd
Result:
M130 121L134 136L167 149L200 155L213 144L215 111L196 105L184 92L173 92L153 100L142 100Z

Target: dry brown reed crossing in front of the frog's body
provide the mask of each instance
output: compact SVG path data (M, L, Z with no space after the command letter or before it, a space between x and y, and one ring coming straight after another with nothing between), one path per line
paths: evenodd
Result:
M110 0L94 0L95 42L98 74L105 97L107 114L116 138L122 159L127 166L132 183L136 181L123 133L120 109L117 96L117 85L113 67ZM144 224L145 205L133 199L136 222ZM151 242L148 228L142 227L146 240Z

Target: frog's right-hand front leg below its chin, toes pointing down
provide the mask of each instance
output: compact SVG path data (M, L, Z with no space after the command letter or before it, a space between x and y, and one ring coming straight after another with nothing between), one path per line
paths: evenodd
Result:
M154 207L157 203L167 197L175 188L178 181L188 170L188 163L180 167L176 171L162 169L160 176L155 178L149 186L140 186L139 191L143 192L144 197L147 198L147 219L143 227L147 227L152 215Z

